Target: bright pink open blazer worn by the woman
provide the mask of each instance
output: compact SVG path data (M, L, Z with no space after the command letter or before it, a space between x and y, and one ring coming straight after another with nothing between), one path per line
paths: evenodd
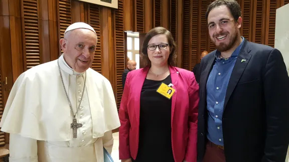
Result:
M132 70L126 76L119 108L119 159L136 158L139 135L140 91L149 67ZM170 66L172 87L172 149L176 162L197 161L199 85L194 73Z

